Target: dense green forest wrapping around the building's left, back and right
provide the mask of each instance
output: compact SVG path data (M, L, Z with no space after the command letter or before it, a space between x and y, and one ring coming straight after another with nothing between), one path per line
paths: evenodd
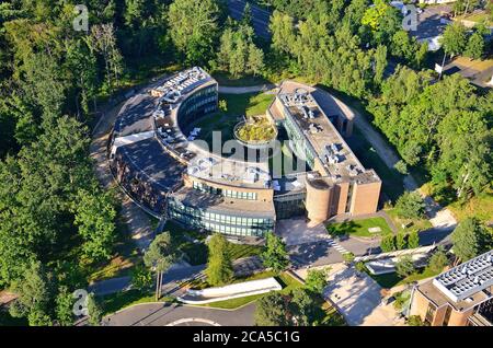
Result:
M88 32L72 26L80 3ZM362 100L437 189L468 199L491 186L493 93L458 76L437 81L399 11L382 0L270 4L271 43L255 36L249 9L233 21L220 0L0 3L0 288L43 293L20 301L19 315L70 324L71 291L114 255L118 205L93 174L90 129L104 102L150 67L307 78ZM486 55L482 27L450 26L444 40L447 55Z

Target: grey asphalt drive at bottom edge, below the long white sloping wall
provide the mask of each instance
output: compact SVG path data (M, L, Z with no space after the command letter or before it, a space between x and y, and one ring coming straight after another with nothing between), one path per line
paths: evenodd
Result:
M200 306L146 303L127 308L103 320L107 326L167 326L183 318L202 320L221 326L253 326L255 304L234 311ZM211 325L199 323L200 326Z

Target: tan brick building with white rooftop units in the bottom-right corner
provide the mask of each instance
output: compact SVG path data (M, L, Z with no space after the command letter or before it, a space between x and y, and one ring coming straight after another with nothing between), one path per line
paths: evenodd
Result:
M432 326L491 326L493 251L413 289L410 315Z

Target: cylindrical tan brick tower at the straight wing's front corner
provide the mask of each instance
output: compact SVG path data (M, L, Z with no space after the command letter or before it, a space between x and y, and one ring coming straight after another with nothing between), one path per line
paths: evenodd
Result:
M308 219L310 221L323 222L330 218L332 199L332 188L321 179L307 179L307 202Z

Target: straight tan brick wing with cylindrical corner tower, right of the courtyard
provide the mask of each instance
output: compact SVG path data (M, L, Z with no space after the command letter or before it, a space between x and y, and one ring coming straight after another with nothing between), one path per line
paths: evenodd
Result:
M318 89L285 81L267 113L311 169L305 177L305 205L313 223L377 211L381 181L363 166L342 136L353 132L354 114L346 105Z

